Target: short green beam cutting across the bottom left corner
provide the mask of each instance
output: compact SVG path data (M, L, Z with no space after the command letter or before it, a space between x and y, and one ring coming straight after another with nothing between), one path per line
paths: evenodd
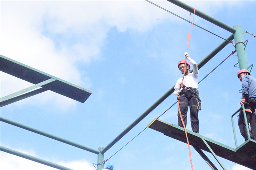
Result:
M45 161L44 159L36 158L36 157L30 156L30 155L24 154L24 153L22 153L22 152L18 152L18 151L15 151L15 150L12 150L12 149L3 147L3 146L0 146L0 150L3 151L3 152L7 152L7 153L9 153L9 154L12 154L12 155L16 155L16 156L18 156L18 157L22 157L22 158L25 158L25 159L29 159L29 160L31 160L31 161L38 162L38 163L41 163L41 164L44 164L44 165L47 165L47 166L56 168L56 169L72 170L72 169L70 169L70 168L67 168L67 167L58 165L58 164L56 164L56 163L52 163L52 162L49 162L49 161Z

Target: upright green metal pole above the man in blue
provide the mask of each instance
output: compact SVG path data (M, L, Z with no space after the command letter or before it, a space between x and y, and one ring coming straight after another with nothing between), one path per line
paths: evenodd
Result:
M241 69L248 69L248 62L245 53L245 46L244 46L244 39L242 36L242 30L240 25L234 25L236 28L236 32L234 33L234 39L236 42L236 50L237 50L237 58L239 63L239 68Z

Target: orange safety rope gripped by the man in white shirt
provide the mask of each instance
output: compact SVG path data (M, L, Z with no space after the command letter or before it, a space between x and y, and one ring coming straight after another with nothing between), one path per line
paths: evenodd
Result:
M195 16L195 8L194 8L194 16ZM189 36L189 26L188 26L188 46L189 46L189 42L190 42L190 38L191 38L192 27L193 27L193 23L194 23L194 16L193 16L193 22L192 22L192 26L191 26L190 36ZM191 17L191 13L190 13L190 16L189 16L189 24L190 24L190 17ZM188 52L188 47L187 47L187 51L186 52ZM186 61L186 56L185 56L185 61ZM181 81L181 84L180 84L180 89L181 88L183 88L183 89L187 88L183 84L183 80L184 80L184 76L185 76L186 72L187 72L187 63L185 62L185 70L184 70L184 74L183 74L182 81ZM182 125L184 127L184 131L185 131L186 138L187 138L188 152L189 152L189 159L190 159L190 163L191 163L191 169L193 170L193 163L192 163L192 158L191 158L191 151L190 151L190 147L189 147L187 130L186 130L186 127L185 127L185 124L184 124L184 121L183 121L183 118L182 118L182 115L181 115L181 112L180 112L179 96L177 97L177 99L178 99L178 110L179 110L179 113L180 113L180 119L181 119Z

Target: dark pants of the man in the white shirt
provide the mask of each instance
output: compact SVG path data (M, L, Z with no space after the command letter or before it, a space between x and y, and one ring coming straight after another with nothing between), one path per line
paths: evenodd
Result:
M182 95L182 93L185 93L185 94ZM199 120L198 120L198 109L197 109L198 102L195 96L192 95L190 90L183 89L181 91L181 97L179 98L179 103L180 103L180 112L181 112L182 119L184 121L185 126L187 126L187 113L188 113L188 106L189 106L192 131L195 133L199 132ZM178 125L183 127L179 112L178 112Z

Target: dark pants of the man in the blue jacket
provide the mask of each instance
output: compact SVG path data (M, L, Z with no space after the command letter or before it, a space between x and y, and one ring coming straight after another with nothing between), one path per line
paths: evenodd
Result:
M254 107L256 107L256 99L255 98L254 99L249 98L248 100L246 100L246 102L253 105ZM254 110L255 108L250 107L249 105L245 104L245 109L250 109L252 111L252 113L250 113L250 112L245 112L245 113L246 113L248 127L249 127L249 124L251 126L251 131L249 130L250 137L251 137L251 139L256 140L256 116L255 116L255 110ZM241 135L244 137L245 141L248 140L243 111L240 111L240 113L239 113L238 126L240 129Z

